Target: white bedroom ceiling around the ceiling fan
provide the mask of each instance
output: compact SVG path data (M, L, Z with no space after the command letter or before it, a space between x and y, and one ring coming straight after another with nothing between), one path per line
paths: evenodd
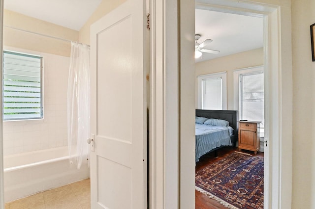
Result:
M218 50L219 54L202 53L196 62L263 47L262 18L209 10L195 10L195 33L198 43L212 39L204 49Z

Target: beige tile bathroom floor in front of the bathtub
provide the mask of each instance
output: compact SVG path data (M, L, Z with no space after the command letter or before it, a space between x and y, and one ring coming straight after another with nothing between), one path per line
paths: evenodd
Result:
M5 209L90 209L90 179L5 204Z

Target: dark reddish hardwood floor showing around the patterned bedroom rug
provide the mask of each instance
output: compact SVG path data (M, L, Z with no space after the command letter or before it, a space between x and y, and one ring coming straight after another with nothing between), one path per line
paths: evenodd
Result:
M231 154L234 151L238 151L237 148L234 147L224 147L220 150L218 150L218 157L214 156L214 153L209 153L203 157L200 157L199 162L196 164L196 171L199 171L203 167L220 160L221 158ZM249 153L251 155L254 155L253 152L251 151L246 151L242 150L241 152L243 153ZM258 152L257 155L258 157L263 157L264 154L261 152ZM196 207L195 209L226 209L224 206L222 206L219 202L216 200L213 200L209 198L208 196L195 191L196 194Z

